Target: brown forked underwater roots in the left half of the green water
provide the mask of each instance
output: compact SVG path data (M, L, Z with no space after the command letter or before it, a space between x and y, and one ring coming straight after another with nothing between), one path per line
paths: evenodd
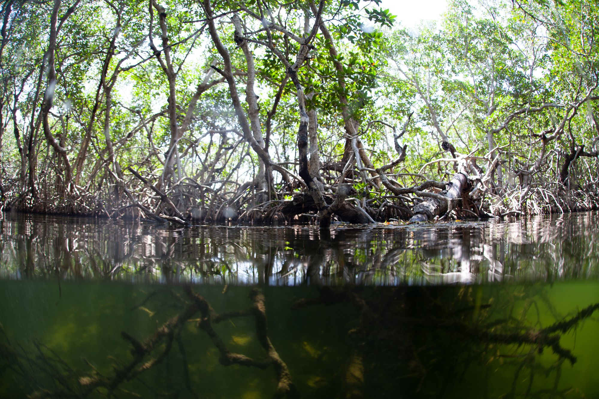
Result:
M168 319L152 335L149 335L144 340L139 340L125 331L121 333L121 337L131 346L129 352L133 356L133 359L120 367L114 367L114 371L110 376L102 375L90 362L87 362L87 364L92 367L91 373L76 371L43 344L35 344L37 348L36 353L26 352L19 344L11 344L6 334L4 334L4 337L7 343L0 343L0 356L2 359L0 361L0 371L11 369L22 376L23 380L25 380L29 388L33 391L28 395L29 398L87 397L92 392L98 391L98 389L101 389L102 392L108 390L108 395L110 396L111 392L119 388L122 383L131 381L141 373L144 373L144 371L161 364L171 350L173 350L173 341L176 341L183 359L186 388L190 395L197 397L190 387L187 356L180 333L184 324L199 313L197 327L208 335L208 338L210 338L211 342L219 350L220 364L225 366L239 364L261 369L272 365L277 377L277 390L274 398L286 397L295 399L299 397L289 368L268 337L264 295L258 289L252 289L250 292L252 306L249 309L240 312L223 313L222 315L214 312L210 303L201 295L193 292L190 286L186 286L184 292L187 296L187 301L179 297L179 295L171 295L179 304L185 304L184 310ZM155 295L155 293L152 293L149 297L154 297ZM147 299L144 300L143 304L147 302ZM256 338L264 349L266 355L264 359L253 359L241 353L231 352L222 338L214 331L213 323L240 316L253 316L255 319ZM1 328L0 331L4 333L4 330ZM159 353L153 355L158 349L160 349ZM36 369L40 373L37 373ZM49 376L52 384L59 388L40 389L41 386L44 386L40 376L44 374Z

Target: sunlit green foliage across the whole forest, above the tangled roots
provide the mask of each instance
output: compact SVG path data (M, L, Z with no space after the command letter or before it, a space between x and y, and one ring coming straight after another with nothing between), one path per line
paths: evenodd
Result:
M181 157L174 166L180 177L201 183L226 177L229 181L220 189L235 194L261 170L240 122L254 117L253 112L255 140L268 141L274 162L297 172L297 87L281 55L292 65L302 48L296 38L310 34L314 15L309 2L250 0L241 8L238 2L212 2L217 35L231 58L230 81L220 75L224 61L200 2L158 2L164 16L156 7L150 16L148 2L138 0L86 0L72 14L72 3L66 1L5 2L0 181L16 188L15 197L24 194L23 201L38 204L30 182L65 186L66 165L41 127L55 4L57 81L47 118L52 138L68 153L81 192L98 188L108 196L114 182L106 167L117 170L115 164L122 164L122 170L143 167L158 179L166 173L166 154L173 146ZM588 0L452 0L439 25L408 30L398 26L379 0L325 2L327 33L317 29L297 72L307 109L317 111L320 161L335 164L347 155L346 122L353 119L374 167L388 164L397 158L389 126L398 134L412 114L400 139L409 144L404 172L418 173L423 162L446 156L439 144L448 140L459 153L478 156L501 147L510 154L498 168L511 176L506 183L537 158L548 178L556 178L558 163L574 144L592 151L599 143L594 91L599 81L594 42L599 37L598 7ZM245 98L252 68L240 47L243 40L235 40L232 10L249 40L257 111ZM208 72L211 64L216 70ZM213 81L198 98L198 86ZM238 110L231 86L240 98ZM584 105L573 110L571 105L579 102ZM541 146L539 135L547 129L555 137ZM225 130L226 136L217 133ZM590 176L592 165L587 169ZM425 173L444 179L446 170L434 164ZM279 175L274 179L279 180L273 186L292 186Z

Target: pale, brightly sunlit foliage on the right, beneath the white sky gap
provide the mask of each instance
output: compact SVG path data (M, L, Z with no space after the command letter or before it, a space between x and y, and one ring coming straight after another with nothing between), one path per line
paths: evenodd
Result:
M598 81L597 15L597 5L585 1L512 5L454 0L439 28L395 31L389 46L391 75L382 92L395 120L415 111L415 123L404 137L416 152L409 162L441 158L440 148L430 145L444 140L441 134L459 152L478 148L483 155L506 146L526 163L543 156L533 134L553 128L558 139L548 148L569 152L570 137L559 131L564 118L571 120L576 143L588 148L588 140L597 135L589 111L594 101L587 103L586 120L580 113L568 114L567 108ZM558 106L513 117L543 104ZM522 167L512 165L513 158L506 160L506 173Z

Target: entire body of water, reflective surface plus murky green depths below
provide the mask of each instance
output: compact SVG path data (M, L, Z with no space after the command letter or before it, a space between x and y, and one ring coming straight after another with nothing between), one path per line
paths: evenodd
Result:
M598 222L3 214L0 397L599 397Z

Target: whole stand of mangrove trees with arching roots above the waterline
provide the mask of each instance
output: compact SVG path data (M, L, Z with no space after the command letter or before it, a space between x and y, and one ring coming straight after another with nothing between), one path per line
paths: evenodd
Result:
M451 0L416 29L379 0L1 7L5 208L147 214L153 185L205 221L372 222L449 213L455 173L458 217L599 201L592 1Z

